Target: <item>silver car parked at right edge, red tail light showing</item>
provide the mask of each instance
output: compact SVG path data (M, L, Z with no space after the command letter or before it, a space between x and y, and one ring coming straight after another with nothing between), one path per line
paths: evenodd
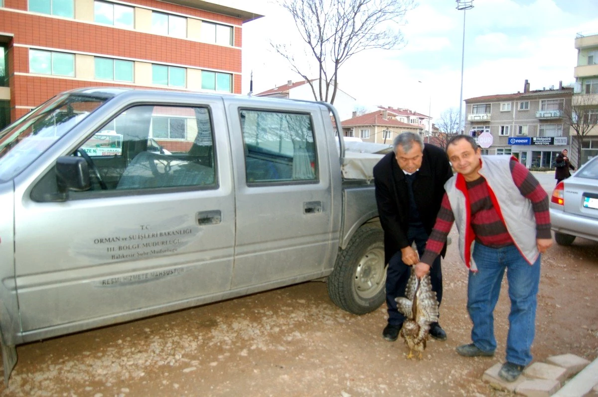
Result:
M556 185L550 221L559 245L571 245L576 237L598 242L598 157Z

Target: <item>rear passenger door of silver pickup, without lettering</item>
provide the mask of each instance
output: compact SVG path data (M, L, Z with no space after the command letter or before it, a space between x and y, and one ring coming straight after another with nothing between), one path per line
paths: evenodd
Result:
M298 110L298 104L227 105L231 140L242 142L233 146L233 289L306 280L329 260L334 214L322 111L313 104Z

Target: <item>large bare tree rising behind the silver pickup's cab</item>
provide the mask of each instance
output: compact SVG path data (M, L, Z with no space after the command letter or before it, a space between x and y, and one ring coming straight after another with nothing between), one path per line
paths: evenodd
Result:
M294 19L306 57L288 44L271 42L272 47L309 83L316 100L329 103L336 97L338 70L350 57L371 48L404 45L401 31L390 28L392 23L402 23L405 13L414 8L414 0L279 0L278 4ZM306 59L317 62L318 78L311 80L309 67L301 65Z

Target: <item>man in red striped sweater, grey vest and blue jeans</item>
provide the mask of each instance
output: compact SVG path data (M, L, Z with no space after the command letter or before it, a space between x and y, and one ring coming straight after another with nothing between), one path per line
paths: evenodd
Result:
M444 185L446 194L416 274L428 273L455 223L460 255L469 268L467 309L473 323L472 343L457 347L457 353L474 357L495 353L493 311L507 271L511 312L499 376L514 381L532 361L540 256L553 244L548 196L517 159L482 156L471 136L451 139L447 155L457 173Z

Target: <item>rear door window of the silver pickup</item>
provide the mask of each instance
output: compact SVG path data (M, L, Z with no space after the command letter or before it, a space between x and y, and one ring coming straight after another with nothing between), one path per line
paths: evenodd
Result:
M309 114L240 111L248 185L318 181Z

